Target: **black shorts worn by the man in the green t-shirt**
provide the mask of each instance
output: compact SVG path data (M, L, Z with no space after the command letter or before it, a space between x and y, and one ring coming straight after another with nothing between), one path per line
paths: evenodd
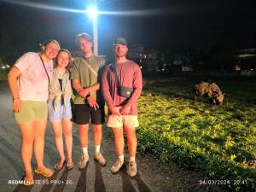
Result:
M99 108L96 110L86 104L74 104L73 122L79 125L91 123L93 125L101 125L105 122L105 103L98 103Z

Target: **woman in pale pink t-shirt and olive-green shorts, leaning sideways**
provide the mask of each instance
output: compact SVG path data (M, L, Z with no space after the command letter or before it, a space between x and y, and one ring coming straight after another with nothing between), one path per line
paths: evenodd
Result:
M21 157L25 166L25 185L34 183L31 166L33 146L37 160L35 172L45 177L53 174L44 166L44 133L47 123L48 87L53 74L52 60L59 49L60 44L50 40L42 46L42 52L22 55L8 74L15 120L22 137Z

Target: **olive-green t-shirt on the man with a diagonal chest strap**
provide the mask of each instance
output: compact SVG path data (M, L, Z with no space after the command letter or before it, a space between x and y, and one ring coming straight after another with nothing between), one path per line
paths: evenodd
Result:
M86 62L96 71L96 73L98 73L97 77L86 66ZM102 76L101 71L104 63L105 60L96 55L92 55L87 58L85 58L84 56L74 58L73 65L71 67L71 79L79 80L79 84L81 84L83 88L90 87L91 85L96 83L100 83L100 79ZM102 97L102 90L92 91L90 92L90 96L93 96L96 99L96 102L104 102ZM74 103L84 104L84 98L76 95Z

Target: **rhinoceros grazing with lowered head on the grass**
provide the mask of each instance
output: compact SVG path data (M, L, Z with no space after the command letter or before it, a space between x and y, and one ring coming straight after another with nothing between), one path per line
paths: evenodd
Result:
M218 105L222 105L224 101L224 93L215 83L208 83L202 81L199 84L195 84L194 96L195 101L197 99L197 96L207 96L210 101L212 101L213 103L218 103Z

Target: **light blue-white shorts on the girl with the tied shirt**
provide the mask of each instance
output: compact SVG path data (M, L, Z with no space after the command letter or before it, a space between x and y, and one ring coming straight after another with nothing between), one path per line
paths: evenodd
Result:
M72 119L71 103L70 100L65 101L65 106L58 103L58 108L53 108L53 100L48 101L48 118L50 122L55 122L63 119Z

